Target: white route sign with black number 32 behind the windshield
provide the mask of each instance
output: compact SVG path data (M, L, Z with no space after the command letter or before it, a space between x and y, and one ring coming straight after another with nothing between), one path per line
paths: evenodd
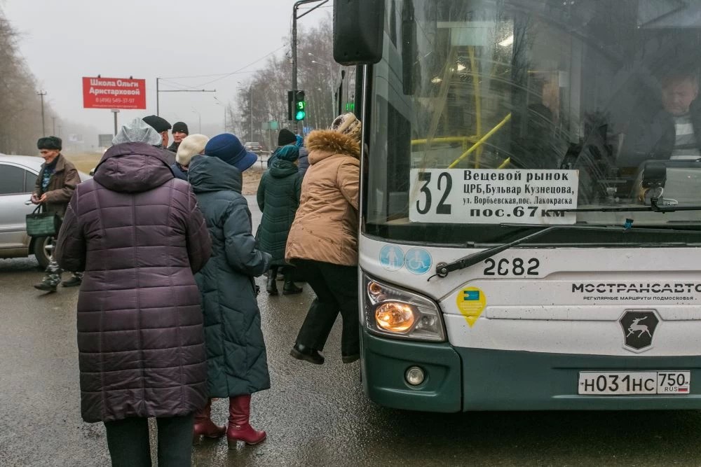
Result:
M411 169L409 221L573 224L577 170Z

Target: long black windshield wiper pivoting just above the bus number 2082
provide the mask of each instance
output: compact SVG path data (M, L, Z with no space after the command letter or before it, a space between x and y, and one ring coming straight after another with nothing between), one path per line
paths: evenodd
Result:
M698 207L698 209L701 209L701 207ZM501 224L502 227L532 227L532 228L538 228L538 227L543 227L543 225L538 225L538 224ZM452 263L438 263L436 265L436 273L429 277L428 280L433 279L433 277L446 277L449 272L451 271L457 271L461 269L465 269L465 267L470 267L472 265L476 265L477 263L486 260L487 258L491 258L492 256L501 253L504 250L508 250L512 248L513 246L520 245L524 242L527 242L528 240L532 240L538 237L542 237L543 235L547 234L548 232L552 232L553 230L598 230L601 232L647 232L647 233L669 233L669 232L676 232L676 233L699 233L701 234L701 230L697 229L690 229L690 230L679 230L679 229L657 229L657 228L644 228L644 227L637 227L637 228L632 228L629 226L625 227L599 227L599 226L594 226L594 225L551 225L550 227L544 228L543 230L538 230L538 232L534 232L532 234L526 235L524 237L521 237L519 239L515 239L513 242L505 243L503 245L497 245L497 246L492 246L491 248L488 248L486 250L478 251L477 253L472 253L468 256L463 256L463 258L460 258L458 260L453 261Z

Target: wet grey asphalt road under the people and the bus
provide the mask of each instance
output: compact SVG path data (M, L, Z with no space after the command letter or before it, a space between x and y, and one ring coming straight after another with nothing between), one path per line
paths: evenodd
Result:
M78 291L43 295L32 288L40 279L34 258L0 260L0 466L108 466L104 427L80 417ZM193 465L701 464L700 412L424 414L378 407L360 389L359 364L341 363L338 326L325 365L288 355L312 298L307 286L301 295L259 297L273 387L253 396L252 424L268 439L231 451L226 440L205 441L193 448ZM224 424L226 401L215 401L212 412Z

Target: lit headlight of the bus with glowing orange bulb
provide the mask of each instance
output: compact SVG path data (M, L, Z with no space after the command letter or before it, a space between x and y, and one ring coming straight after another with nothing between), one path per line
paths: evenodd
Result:
M433 300L363 275L363 321L379 335L411 340L445 340L440 309Z

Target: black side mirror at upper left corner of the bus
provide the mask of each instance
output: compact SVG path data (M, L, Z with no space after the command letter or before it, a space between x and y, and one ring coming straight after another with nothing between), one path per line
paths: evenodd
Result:
M379 62L384 24L383 1L334 1L334 60L345 66Z

